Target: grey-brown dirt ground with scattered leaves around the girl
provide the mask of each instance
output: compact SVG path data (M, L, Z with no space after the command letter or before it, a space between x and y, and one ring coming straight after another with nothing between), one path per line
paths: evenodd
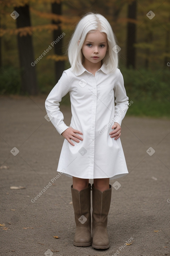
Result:
M44 118L45 98L0 98L0 255L170 255L170 120L124 118L129 174L111 181L111 246L75 247L72 179L56 176L64 138ZM70 125L70 109L61 110Z

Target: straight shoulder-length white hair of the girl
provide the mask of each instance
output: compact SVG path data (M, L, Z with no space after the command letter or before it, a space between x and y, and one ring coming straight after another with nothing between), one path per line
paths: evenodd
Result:
M68 45L68 59L72 71L79 71L79 68L82 66L83 54L81 49L87 33L95 32L96 30L105 33L107 37L108 51L106 52L102 63L105 63L108 73L114 72L116 68L118 68L118 53L112 50L116 45L116 37L110 23L101 14L88 13L83 16L76 25ZM78 45L79 40L80 42Z

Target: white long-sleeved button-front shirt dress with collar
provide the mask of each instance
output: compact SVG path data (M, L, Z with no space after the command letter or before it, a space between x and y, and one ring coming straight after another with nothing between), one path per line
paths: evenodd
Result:
M73 141L73 146L64 140L57 172L82 179L110 180L128 174L120 138L114 140L109 135L114 122L121 125L128 109L120 70L108 73L103 64L95 76L83 66L77 73L71 68L63 72L45 102L47 114L59 134L69 128L59 109L59 102L68 92L72 112L70 127L83 133L78 134L83 141Z

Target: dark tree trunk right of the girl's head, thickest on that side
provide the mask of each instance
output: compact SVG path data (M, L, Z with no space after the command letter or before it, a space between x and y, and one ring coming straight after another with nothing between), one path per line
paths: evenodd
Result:
M128 19L136 20L137 12L137 2L133 1L128 5ZM128 22L127 25L127 68L131 66L135 69L136 60L136 48L134 44L136 43L136 24Z

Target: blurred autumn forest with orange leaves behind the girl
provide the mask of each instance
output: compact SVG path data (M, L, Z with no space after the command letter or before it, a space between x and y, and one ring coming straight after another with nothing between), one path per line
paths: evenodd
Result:
M121 48L119 68L133 102L127 114L170 117L170 1L0 0L0 6L1 96L48 95L70 67L66 49L76 23L95 12L111 23ZM70 104L68 95L62 104Z

